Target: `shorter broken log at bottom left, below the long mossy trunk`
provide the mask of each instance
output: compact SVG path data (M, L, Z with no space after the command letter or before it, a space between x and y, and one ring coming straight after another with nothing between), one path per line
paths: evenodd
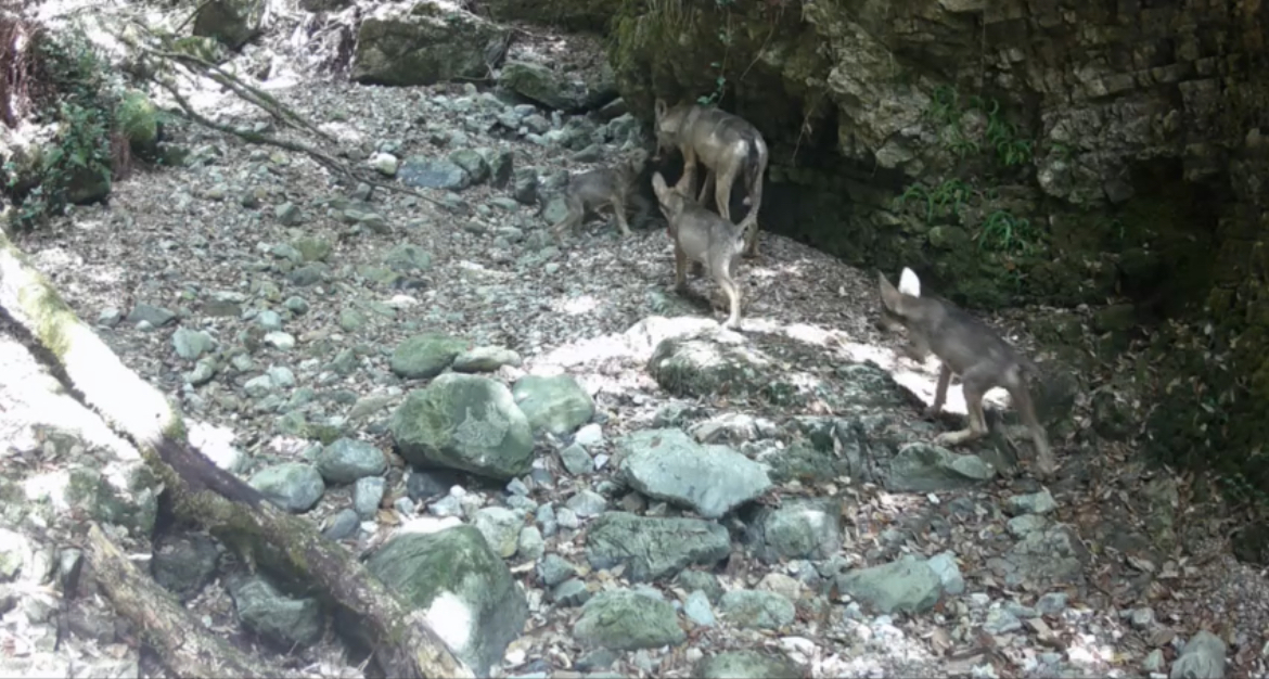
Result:
M114 609L136 623L176 676L288 676L280 668L213 635L173 595L142 574L94 523L88 529L93 575Z

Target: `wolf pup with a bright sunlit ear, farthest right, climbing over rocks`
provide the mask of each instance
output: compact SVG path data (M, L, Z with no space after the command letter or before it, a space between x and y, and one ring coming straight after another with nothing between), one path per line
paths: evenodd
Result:
M897 324L907 329L910 344L905 348L905 353L910 358L924 360L933 352L942 363L934 404L926 409L926 416L933 416L943 409L952 373L961 376L961 390L964 392L966 409L970 411L970 428L939 434L935 443L958 445L986 435L987 420L982 412L982 397L992 387L1004 387L1030 432L1041 475L1052 475L1057 470L1057 463L1053 461L1044 428L1036 419L1036 409L1027 391L1025 374L1039 374L1036 364L1014 350L995 330L952 302L921 297L921 282L912 269L904 268L898 289L890 284L886 274L878 273L878 279L882 324L890 327Z

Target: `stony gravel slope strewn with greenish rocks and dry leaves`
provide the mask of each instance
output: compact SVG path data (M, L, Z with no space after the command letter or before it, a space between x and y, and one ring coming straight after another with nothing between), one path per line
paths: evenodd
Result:
M516 30L516 61L599 53ZM1063 463L1052 485L1015 476L1008 414L982 445L934 447L963 404L954 390L952 414L919 418L937 366L897 359L898 339L874 330L872 272L764 234L740 275L744 333L730 333L706 300L670 289L654 212L631 239L595 220L549 241L561 176L647 145L619 107L324 81L277 66L297 49L273 37L236 65L270 72L353 161L435 203L174 126L187 162L22 246L180 402L218 465L367 555L478 673L1264 671L1263 577L1221 551L1221 515L1189 486L1090 426L1091 399L1061 362L1044 362L1039 387ZM605 81L585 72L570 79L582 98ZM148 552L156 505L127 447L3 338L14 539L0 630L19 649L4 666L161 675L84 595L90 579L62 612L36 595L77 571L80 515ZM289 650L305 674L357 674L336 635L355 630L221 555L176 533L150 565L209 627Z

